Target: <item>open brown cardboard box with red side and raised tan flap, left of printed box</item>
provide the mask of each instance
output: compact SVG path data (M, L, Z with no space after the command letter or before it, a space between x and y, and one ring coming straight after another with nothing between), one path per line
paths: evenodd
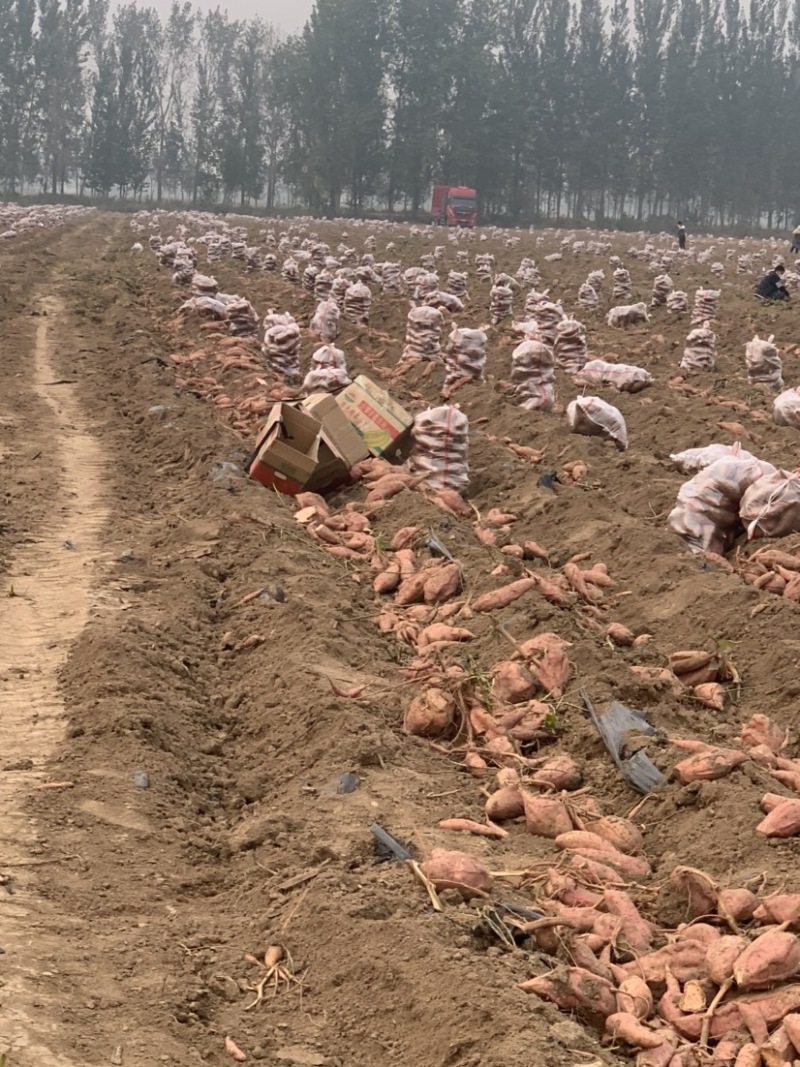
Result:
M345 484L369 455L333 397L314 394L298 407L276 403L247 461L249 476L288 496Z

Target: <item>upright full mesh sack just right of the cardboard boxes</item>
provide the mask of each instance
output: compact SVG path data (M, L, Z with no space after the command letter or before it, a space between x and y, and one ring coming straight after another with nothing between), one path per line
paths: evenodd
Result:
M469 420L454 404L420 412L412 427L409 466L423 475L431 489L454 489L463 493L469 485Z

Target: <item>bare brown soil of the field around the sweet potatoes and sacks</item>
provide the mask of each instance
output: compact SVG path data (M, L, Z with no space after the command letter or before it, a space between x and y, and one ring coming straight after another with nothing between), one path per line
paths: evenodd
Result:
M345 227L310 228L335 250ZM164 237L171 232L165 222ZM350 226L343 239L361 254L366 234ZM407 229L377 236L379 261L403 267L433 246ZM666 773L685 754L667 737L726 744L755 712L788 728L787 753L800 755L800 607L692 556L666 525L685 480L669 453L735 440L720 421L741 423L752 434L743 445L761 458L798 466L797 431L759 417L771 397L748 385L743 346L756 331L774 333L786 382L796 384L800 309L759 306L754 275L737 276L735 260L721 283L706 266L671 269L690 298L698 287L722 290L717 368L692 380L711 388L686 395L667 383L688 316L657 308L646 327L611 330L608 254L546 262L563 235L519 236L515 248L498 237L461 246L470 256L493 252L496 269L511 274L523 256L535 258L543 287L587 322L592 353L613 353L655 377L637 395L598 391L626 418L626 452L569 433L563 409L576 389L561 372L551 414L503 398L497 382L508 378L515 344L508 324L490 331L486 383L455 397L470 419L469 499L478 511L515 513L513 540L545 546L553 568L576 553L605 562L615 587L604 625L652 635L613 648L573 607L538 593L499 614L516 641L553 631L572 642L572 676L543 750L572 755L609 813L639 803L587 717L582 687L598 708L615 698L650 713L662 732L651 755ZM444 912L434 912L405 865L377 858L373 821L418 856L463 848L492 871L537 870L555 848L524 825L510 825L502 841L437 828L449 816L482 819L481 781L446 745L402 733L417 691L403 672L413 653L379 632L369 568L329 556L288 499L221 467L241 467L252 434L231 430L224 408L181 385L185 368L171 356L205 347L210 366L217 341L199 320L176 317L186 292L146 239L144 252L130 251L134 239L127 218L93 214L0 246L6 1067L222 1065L231 1062L226 1035L249 1060L275 1067L624 1058L624 1049L601 1046L595 1033L517 988L551 966L532 942L503 949L481 922L480 902L445 894ZM390 256L388 239L398 244ZM634 299L649 302L652 275L628 254L643 238L609 240L631 272ZM772 254L766 242L719 242L714 258L724 259L727 246L767 250L756 270ZM307 325L313 299L279 276L244 273L230 258L208 265L203 252L198 268L260 314L291 310ZM603 314L587 316L576 292L597 268L606 270ZM457 269L449 244L438 269L443 276ZM458 321L481 325L489 285L473 276L469 289ZM375 292L370 330L342 322L337 344L351 375L380 377L395 366L406 312L405 297ZM303 354L315 347L304 331ZM437 399L442 379L441 369L413 370L391 392L418 411ZM226 379L230 395L236 380ZM720 399L740 401L745 413ZM253 433L257 427L254 417ZM542 449L542 461L519 459L503 439ZM538 484L542 472L571 460L588 465L578 483L555 492ZM364 495L357 484L333 503ZM508 580L490 572L501 562L513 568L513 559L418 492L382 507L373 529L390 539L412 524L430 528L462 562L470 595ZM257 589L265 592L239 605ZM468 659L459 649L452 658L482 678L513 650L486 617L467 625L476 634ZM261 640L243 647L251 635ZM629 670L719 642L731 642L741 675L722 713ZM365 688L343 699L329 680ZM341 795L336 779L347 771L358 787ZM41 787L50 783L71 784ZM791 795L748 762L719 781L671 781L644 802L636 822L654 873L633 892L649 919L670 928L685 919L668 881L677 864L723 885L800 892L797 839L754 832L766 792ZM511 878L496 895L533 906L540 890ZM251 1007L262 972L245 955L260 957L275 942L287 946L301 981L274 996L267 986Z

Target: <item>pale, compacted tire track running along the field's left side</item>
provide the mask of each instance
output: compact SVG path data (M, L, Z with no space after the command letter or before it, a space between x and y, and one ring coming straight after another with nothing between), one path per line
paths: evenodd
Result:
M37 322L31 391L49 412L37 439L58 468L59 489L49 501L49 520L17 550L0 588L0 874L6 876L0 1052L13 1053L14 1067L74 1067L46 1047L58 1013L48 1010L41 980L51 976L47 960L58 958L59 939L37 893L42 848L27 799L43 784L45 766L64 736L58 675L89 619L100 531L109 511L102 450L81 412L76 387L54 384L54 346L64 304L47 296L41 308L46 314ZM62 929L65 922L60 914Z

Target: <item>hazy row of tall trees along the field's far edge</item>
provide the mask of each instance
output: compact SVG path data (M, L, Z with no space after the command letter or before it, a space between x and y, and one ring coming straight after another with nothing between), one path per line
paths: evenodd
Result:
M316 0L303 30L0 0L0 189L794 224L800 0Z

